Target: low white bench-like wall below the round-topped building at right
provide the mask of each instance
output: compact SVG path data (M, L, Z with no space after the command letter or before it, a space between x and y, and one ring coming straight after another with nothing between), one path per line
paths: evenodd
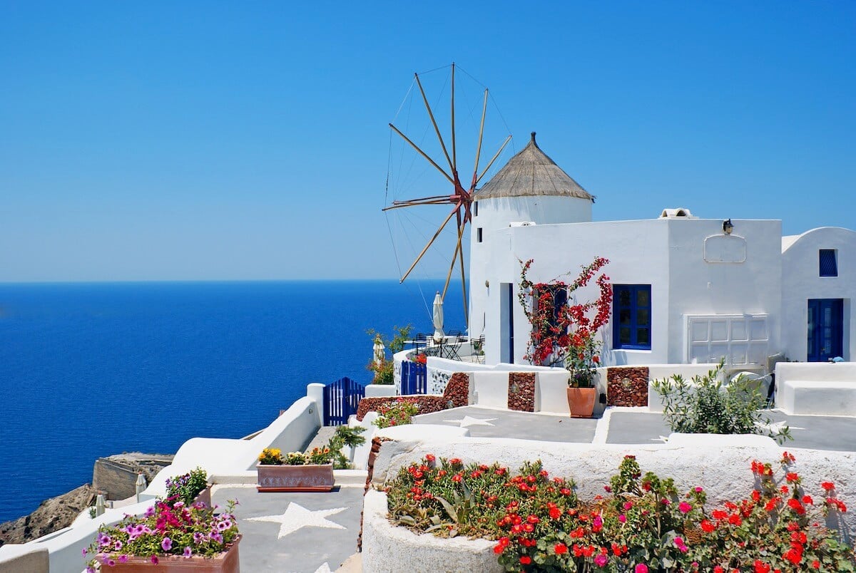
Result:
M792 415L856 416L856 363L776 364L776 407Z

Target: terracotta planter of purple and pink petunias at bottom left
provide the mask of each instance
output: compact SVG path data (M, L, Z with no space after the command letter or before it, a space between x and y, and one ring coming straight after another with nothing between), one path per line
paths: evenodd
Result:
M111 573L238 573L238 523L232 513L214 513L202 504L158 499L141 516L102 525L84 556L86 573L100 565ZM107 569L109 568L109 569Z

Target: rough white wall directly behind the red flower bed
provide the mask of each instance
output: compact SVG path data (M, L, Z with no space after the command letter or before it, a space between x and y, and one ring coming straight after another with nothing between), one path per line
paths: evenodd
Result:
M511 438L448 438L422 434L410 440L398 437L383 443L375 459L372 483L382 487L398 471L420 463L426 454L437 458L461 458L464 464L496 461L516 471L527 461L541 460L550 476L573 478L580 499L603 494L603 486L615 475L626 455L636 457L643 472L653 471L675 479L679 491L704 487L709 506L741 499L752 492L752 461L776 464L783 449L763 436L673 434L666 444L574 444ZM822 497L820 483L835 482L836 496L856 499L856 452L818 451L788 447L796 462L790 466L802 477L805 493ZM847 539L856 539L856 512L838 515L835 526ZM369 549L364 541L364 554ZM379 557L378 557L379 558ZM454 557L435 563L454 563ZM477 569L478 570L478 569Z

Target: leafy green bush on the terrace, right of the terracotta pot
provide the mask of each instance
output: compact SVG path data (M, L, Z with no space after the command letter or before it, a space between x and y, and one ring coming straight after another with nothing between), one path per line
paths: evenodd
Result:
M681 375L655 380L652 386L663 396L663 417L673 432L686 434L763 434L780 444L792 440L788 426L776 431L762 409L766 397L751 381L738 379L723 387L718 377L722 362L707 375ZM764 427L766 425L766 427Z

